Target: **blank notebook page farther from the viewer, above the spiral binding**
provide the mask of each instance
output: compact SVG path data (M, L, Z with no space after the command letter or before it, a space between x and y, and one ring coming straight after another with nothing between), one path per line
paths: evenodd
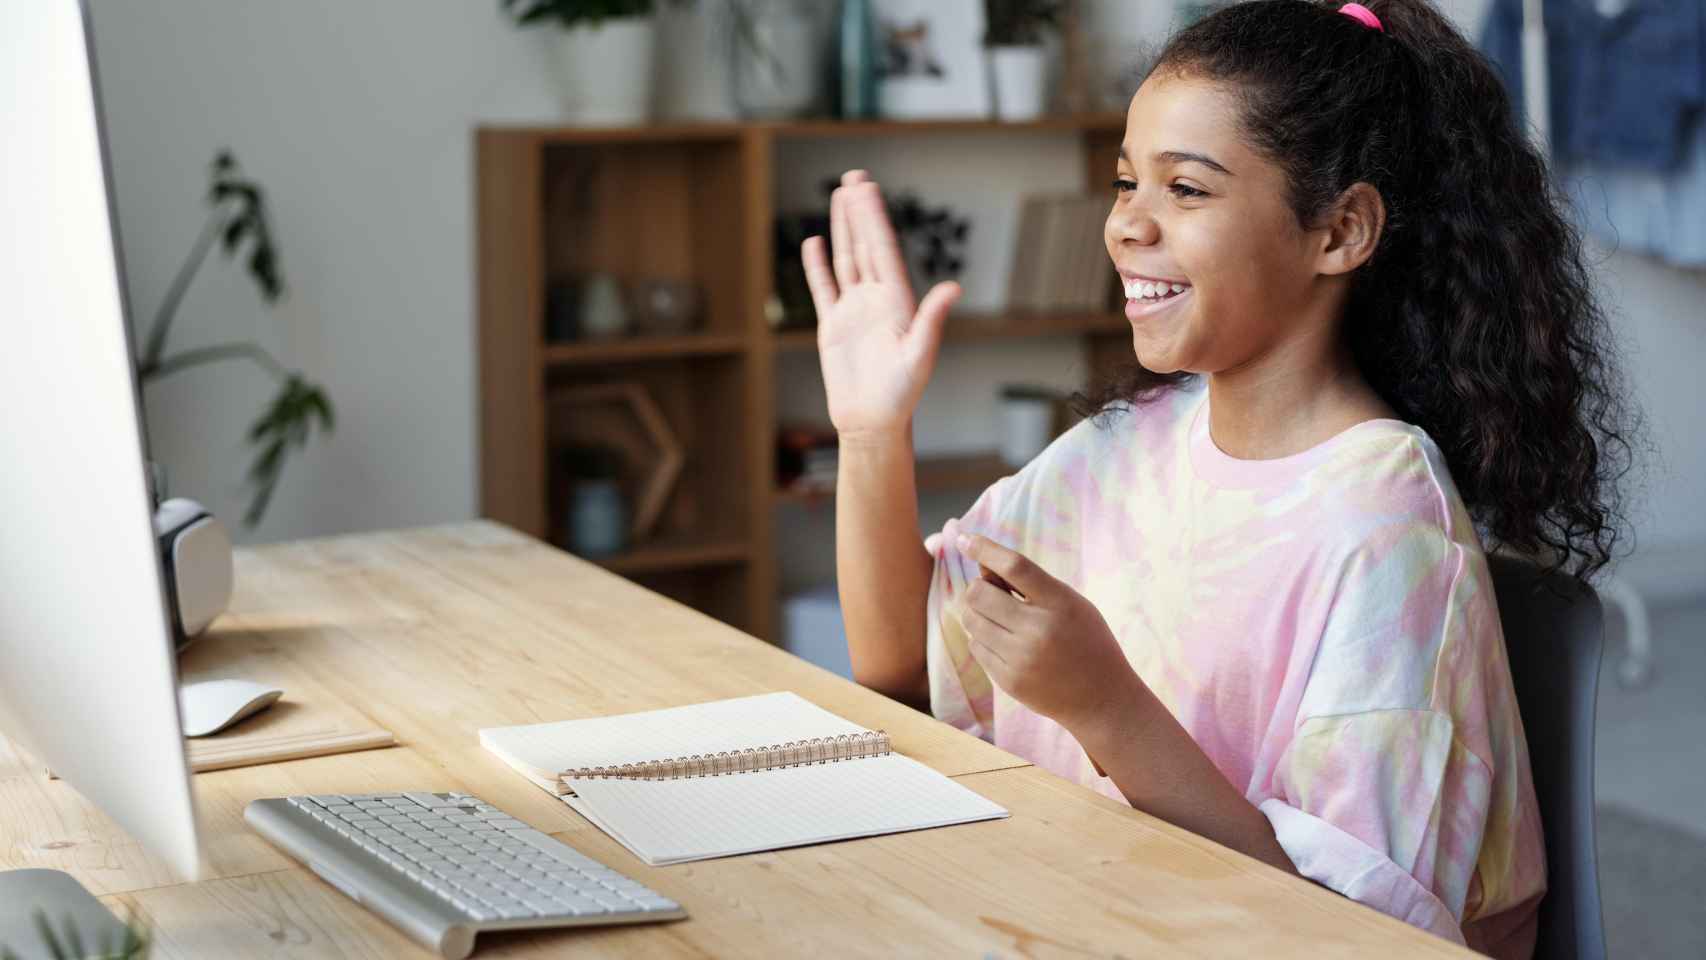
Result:
M691 754L865 733L793 692L757 694L619 716L493 726L479 743L546 789L572 767L638 764Z

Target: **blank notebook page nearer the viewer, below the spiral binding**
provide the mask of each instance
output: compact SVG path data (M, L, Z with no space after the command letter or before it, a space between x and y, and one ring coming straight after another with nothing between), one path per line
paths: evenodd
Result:
M710 778L570 783L577 796L565 801L652 866L1007 817L899 754Z

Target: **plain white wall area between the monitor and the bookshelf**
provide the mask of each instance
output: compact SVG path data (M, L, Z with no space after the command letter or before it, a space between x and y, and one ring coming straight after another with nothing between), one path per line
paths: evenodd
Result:
M220 147L266 189L290 297L271 314L215 254L172 346L259 339L326 384L338 428L292 457L271 541L474 513L471 130L549 118L532 36L495 2L94 2L130 295L142 326L201 227ZM246 367L145 394L174 493L235 523L244 431L271 396Z

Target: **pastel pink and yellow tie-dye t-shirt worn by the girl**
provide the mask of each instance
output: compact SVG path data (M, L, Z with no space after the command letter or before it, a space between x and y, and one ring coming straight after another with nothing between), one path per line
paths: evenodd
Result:
M1399 419L1239 460L1187 385L1083 421L942 535L935 714L1123 800L1078 742L989 682L957 532L1083 593L1138 675L1273 824L1298 871L1496 957L1546 890L1529 750L1486 556L1445 459Z

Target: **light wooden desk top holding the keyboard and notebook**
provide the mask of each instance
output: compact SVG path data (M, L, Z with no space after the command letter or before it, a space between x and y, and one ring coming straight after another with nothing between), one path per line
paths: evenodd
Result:
M183 883L0 740L0 866L136 909L157 958L430 957L242 822L258 796L384 789L478 793L691 914L485 936L485 957L1472 957L496 523L239 551L232 612L191 655L287 656L403 745L198 774L212 873ZM474 733L778 689L887 730L1012 818L650 868Z

